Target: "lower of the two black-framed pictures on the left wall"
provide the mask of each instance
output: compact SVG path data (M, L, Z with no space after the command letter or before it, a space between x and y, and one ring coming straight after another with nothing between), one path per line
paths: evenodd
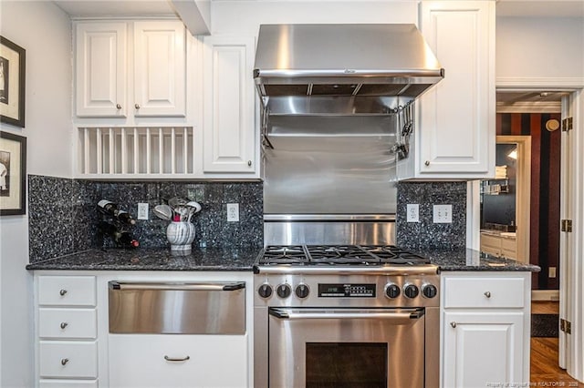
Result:
M26 138L0 131L0 216L26 214Z

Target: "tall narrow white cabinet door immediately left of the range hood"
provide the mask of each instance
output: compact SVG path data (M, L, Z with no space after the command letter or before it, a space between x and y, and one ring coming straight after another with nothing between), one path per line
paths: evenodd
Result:
M254 39L208 36L203 44L203 170L254 173Z

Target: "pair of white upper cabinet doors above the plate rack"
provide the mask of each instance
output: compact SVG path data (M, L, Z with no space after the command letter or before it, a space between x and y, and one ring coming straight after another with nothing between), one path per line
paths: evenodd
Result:
M180 21L78 22L77 116L184 117L184 31Z

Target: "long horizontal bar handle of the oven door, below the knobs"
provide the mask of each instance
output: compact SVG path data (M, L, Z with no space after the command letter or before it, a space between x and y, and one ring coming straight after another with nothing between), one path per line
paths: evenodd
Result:
M297 309L269 309L270 315L283 320L337 320L337 319L376 319L387 320L394 324L409 324L412 320L422 318L424 309L410 309L400 311L384 310L297 310Z

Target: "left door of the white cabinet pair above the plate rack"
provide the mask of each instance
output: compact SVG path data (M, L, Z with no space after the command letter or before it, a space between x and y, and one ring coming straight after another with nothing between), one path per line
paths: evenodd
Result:
M126 24L76 28L78 117L126 117Z

